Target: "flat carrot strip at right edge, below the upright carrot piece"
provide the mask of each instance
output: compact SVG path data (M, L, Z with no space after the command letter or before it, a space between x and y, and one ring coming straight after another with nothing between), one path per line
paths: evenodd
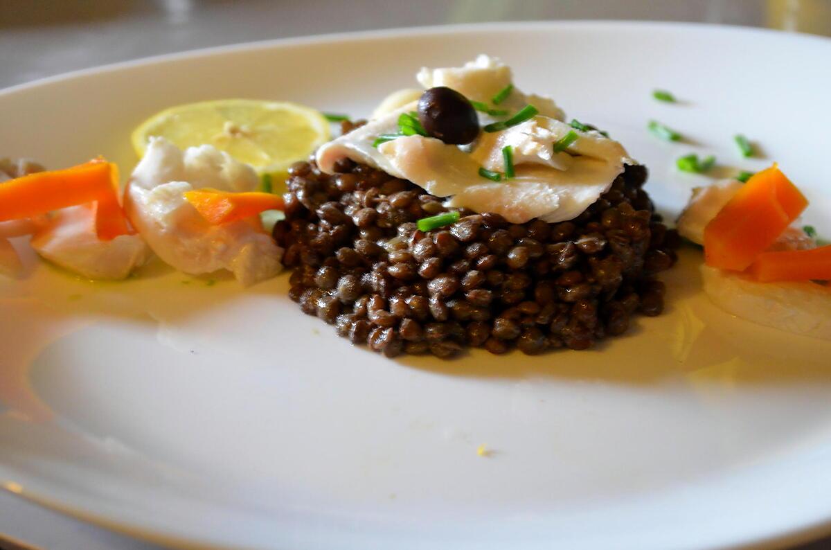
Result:
M759 282L831 280L831 245L809 250L761 253L750 264Z

